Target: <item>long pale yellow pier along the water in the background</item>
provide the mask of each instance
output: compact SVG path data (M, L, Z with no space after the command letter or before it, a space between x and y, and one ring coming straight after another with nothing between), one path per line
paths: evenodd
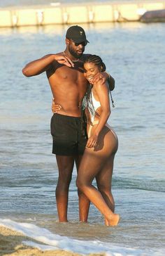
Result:
M138 21L146 11L165 9L165 1L50 4L0 8L0 27Z

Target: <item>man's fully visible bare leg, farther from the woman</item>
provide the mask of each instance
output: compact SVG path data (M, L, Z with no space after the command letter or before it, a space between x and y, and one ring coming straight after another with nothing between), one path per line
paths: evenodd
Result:
M73 172L73 156L56 155L57 165L59 168L59 179L56 187L56 202L59 222L68 222L68 197L69 185Z

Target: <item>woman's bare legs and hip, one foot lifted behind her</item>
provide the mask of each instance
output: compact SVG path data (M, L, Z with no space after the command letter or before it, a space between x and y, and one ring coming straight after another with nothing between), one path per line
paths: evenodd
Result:
M94 129L94 127L92 128ZM99 209L106 219L106 225L117 225L120 216L115 215L114 200L110 192L100 193L92 181L96 177L99 188L103 191L101 183L110 191L113 174L113 160L117 151L118 141L115 133L108 127L104 127L99 135L99 141L95 148L86 148L78 170L77 186L85 193L87 198ZM110 168L109 168L110 165ZM99 182L100 181L100 182Z

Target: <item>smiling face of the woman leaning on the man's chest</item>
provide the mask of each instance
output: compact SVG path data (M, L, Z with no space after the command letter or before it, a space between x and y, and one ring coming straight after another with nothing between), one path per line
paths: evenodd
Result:
M84 64L84 76L92 84L94 76L100 72L99 67L94 63L85 63Z

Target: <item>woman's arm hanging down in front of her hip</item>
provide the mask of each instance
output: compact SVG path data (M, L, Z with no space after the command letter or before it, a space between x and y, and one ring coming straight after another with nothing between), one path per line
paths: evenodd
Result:
M96 91L99 101L101 103L101 115L99 117L99 123L94 129L94 133L87 141L87 148L92 148L96 145L99 133L106 124L108 117L110 116L110 99L109 99L109 89L107 84L97 83L94 85L94 90Z

